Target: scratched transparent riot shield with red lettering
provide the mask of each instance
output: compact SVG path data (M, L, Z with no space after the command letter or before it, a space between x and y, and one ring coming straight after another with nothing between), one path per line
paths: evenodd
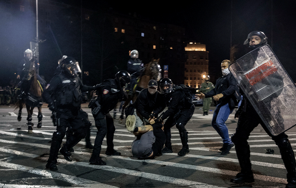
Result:
M229 66L269 134L296 124L296 87L269 45L263 45Z

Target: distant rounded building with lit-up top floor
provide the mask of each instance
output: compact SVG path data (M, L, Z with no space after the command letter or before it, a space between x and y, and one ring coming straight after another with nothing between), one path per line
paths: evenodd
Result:
M203 78L209 73L209 52L206 45L190 42L185 47L186 62L184 71L184 84L199 88Z

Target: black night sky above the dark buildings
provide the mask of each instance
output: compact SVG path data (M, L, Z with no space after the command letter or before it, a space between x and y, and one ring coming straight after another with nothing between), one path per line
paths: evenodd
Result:
M59 0L58 2L61 2ZM62 0L66 4L81 5L95 10L109 9L119 11L123 14L136 12L138 17L156 21L159 23L170 23L182 26L186 29L186 36L190 41L200 42L206 45L209 51L209 74L212 77L221 76L220 63L230 57L230 46L242 44L248 33L254 30L262 31L268 37L268 44L273 48L276 56L296 82L296 19L294 11L296 2L294 0L207 0L178 3L162 3L161 1L81 1ZM0 4L1 9L1 4ZM1 11L1 10L0 10ZM7 28L1 28L2 30ZM26 26L21 26L20 32L26 31ZM11 33L13 33L12 31ZM8 39L0 39L3 48L0 52L0 63L2 71L10 72L11 66L2 62L6 56L15 59L23 57L23 51L14 47L6 49L5 42L20 44L28 41L32 36L14 35L4 33ZM188 41L185 41L188 42ZM29 47L29 46L28 46ZM23 48L28 48L23 47ZM23 49L22 48L22 49ZM0 86L6 82L1 77ZM211 80L214 81L214 80Z

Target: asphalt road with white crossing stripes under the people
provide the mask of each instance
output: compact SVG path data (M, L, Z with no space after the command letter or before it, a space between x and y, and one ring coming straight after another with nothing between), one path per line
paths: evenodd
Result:
M96 128L86 105L83 105L83 110L89 113L93 124L93 143ZM28 134L26 110L23 109L22 120L18 122L17 110L14 109L14 106L0 106L0 187L285 187L287 172L279 149L260 125L249 138L255 182L231 183L229 180L240 171L235 149L232 148L227 155L220 155L219 148L223 143L211 126L213 111L209 116L202 116L200 106L196 107L186 125L190 149L186 156L177 156L182 146L178 130L173 127L173 153L151 160L132 158L134 135L115 119L114 145L121 156L106 156L104 141L101 156L107 165L89 165L92 150L86 149L85 140L82 140L74 147L72 162L59 154L58 171L45 169L51 136L55 131L51 112L44 105L42 128L34 126L33 134ZM37 109L34 113L33 123L36 125ZM226 122L229 136L235 132L236 123L237 119L231 114ZM296 151L295 128L287 134ZM266 153L267 148L273 149L274 154Z

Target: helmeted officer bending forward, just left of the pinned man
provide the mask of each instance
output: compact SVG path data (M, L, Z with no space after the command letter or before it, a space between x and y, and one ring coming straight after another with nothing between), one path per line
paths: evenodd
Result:
M104 80L96 90L96 97L89 104L92 108L92 115L95 119L95 126L98 129L95 137L94 149L89 159L92 165L106 165L101 157L101 145L107 135L106 155L119 156L121 153L114 149L113 137L115 126L110 111L116 107L118 100L126 100L125 85L130 82L130 75L125 70L117 72L115 79Z

